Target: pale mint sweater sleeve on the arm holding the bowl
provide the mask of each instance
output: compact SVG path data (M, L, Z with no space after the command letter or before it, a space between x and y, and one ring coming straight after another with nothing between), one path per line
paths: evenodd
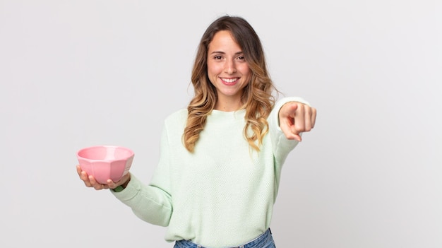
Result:
M167 226L172 216L172 196L169 182L169 165L167 163L169 149L167 132L162 131L160 146L160 163L155 169L150 184L143 184L131 175L126 189L112 194L121 202L131 207L133 213L141 220L153 225Z

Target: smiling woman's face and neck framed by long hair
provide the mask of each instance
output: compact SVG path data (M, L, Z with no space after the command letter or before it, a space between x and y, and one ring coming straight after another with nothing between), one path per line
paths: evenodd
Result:
M217 110L238 110L241 93L249 83L251 72L241 47L229 31L219 31L208 49L208 77L217 89ZM233 108L233 109L232 109Z

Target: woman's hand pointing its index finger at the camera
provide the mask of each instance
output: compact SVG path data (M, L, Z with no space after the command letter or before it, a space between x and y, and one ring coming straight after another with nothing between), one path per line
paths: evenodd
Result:
M280 112L280 128L288 139L301 141L299 134L310 131L315 126L316 109L301 102L287 102Z

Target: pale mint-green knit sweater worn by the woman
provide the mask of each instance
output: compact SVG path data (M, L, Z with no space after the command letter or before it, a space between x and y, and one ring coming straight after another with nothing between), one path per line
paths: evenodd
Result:
M245 110L213 110L193 153L182 143L187 110L165 119L160 161L149 184L134 175L114 196L138 218L167 226L165 240L191 240L203 247L234 247L270 227L282 164L297 141L279 127L282 98L268 117L269 132L260 151L244 138Z

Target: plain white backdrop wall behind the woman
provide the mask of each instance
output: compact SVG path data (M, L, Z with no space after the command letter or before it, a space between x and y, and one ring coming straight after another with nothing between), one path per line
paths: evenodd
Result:
M147 183L196 47L249 20L270 75L318 109L289 155L277 247L442 247L442 4L434 0L0 0L0 247L172 247L76 151L132 148Z

